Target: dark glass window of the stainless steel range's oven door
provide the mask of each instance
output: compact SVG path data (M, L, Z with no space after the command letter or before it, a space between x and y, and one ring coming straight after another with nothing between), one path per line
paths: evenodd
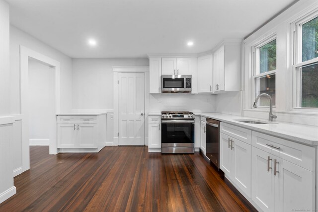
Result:
M161 124L162 143L194 143L194 124Z

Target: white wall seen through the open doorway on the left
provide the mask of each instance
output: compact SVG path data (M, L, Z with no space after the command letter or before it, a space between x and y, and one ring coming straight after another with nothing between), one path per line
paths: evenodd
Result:
M55 68L29 59L30 145L49 145L55 120Z

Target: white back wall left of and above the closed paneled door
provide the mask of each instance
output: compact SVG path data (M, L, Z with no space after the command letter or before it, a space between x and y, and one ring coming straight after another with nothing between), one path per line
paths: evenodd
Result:
M113 109L114 66L149 66L149 60L73 59L73 109Z

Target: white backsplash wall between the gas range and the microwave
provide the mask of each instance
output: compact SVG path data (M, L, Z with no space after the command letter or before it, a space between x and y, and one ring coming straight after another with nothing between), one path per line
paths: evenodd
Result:
M149 111L215 112L216 95L189 93L150 94Z

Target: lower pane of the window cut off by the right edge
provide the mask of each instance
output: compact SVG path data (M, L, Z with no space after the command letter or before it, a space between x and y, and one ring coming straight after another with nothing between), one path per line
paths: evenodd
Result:
M318 107L318 64L301 68L301 107Z

